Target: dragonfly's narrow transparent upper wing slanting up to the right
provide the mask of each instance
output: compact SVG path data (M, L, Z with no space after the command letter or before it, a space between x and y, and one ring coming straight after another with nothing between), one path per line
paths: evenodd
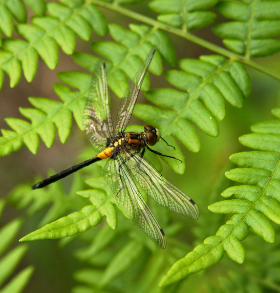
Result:
M129 86L126 89L123 98L121 99L115 128L116 134L125 131L129 123L130 117L134 109L134 105L136 103L140 91L141 84L143 83L149 65L151 63L152 57L154 55L155 49L155 46L151 48L151 51L146 57L144 63L129 83Z

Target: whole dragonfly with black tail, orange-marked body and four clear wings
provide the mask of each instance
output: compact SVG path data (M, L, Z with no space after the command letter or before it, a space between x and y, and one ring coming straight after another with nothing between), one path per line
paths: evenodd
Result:
M32 189L43 188L81 168L108 159L104 167L104 178L112 189L118 206L151 240L164 249L164 231L137 184L159 205L175 213L196 220L199 211L188 195L165 179L145 158L147 149L157 155L176 159L150 147L160 139L168 145L161 137L159 128L147 125L141 133L125 132L155 49L155 46L151 48L130 81L119 105L115 128L109 109L106 65L100 63L95 66L83 114L83 126L89 145L98 155L33 185Z

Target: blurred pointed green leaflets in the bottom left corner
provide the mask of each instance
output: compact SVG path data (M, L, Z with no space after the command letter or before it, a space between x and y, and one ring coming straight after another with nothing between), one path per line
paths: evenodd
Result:
M4 206L5 201L1 199L1 211L4 209ZM33 266L28 266L7 282L28 249L27 245L19 245L2 256L11 246L12 241L15 239L21 227L22 220L16 218L0 228L0 293L21 293L34 271Z

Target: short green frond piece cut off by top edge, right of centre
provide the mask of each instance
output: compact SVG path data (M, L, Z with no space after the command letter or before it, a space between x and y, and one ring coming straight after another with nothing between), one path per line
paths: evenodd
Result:
M213 23L215 13L204 10L216 3L217 0L152 0L148 5L159 14L158 21L187 31Z

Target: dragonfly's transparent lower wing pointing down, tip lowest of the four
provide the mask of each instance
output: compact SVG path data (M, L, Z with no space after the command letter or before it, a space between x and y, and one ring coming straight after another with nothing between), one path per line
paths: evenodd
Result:
M104 177L119 207L152 241L164 249L164 232L133 181L122 154L118 154L116 160L108 160L104 167Z

